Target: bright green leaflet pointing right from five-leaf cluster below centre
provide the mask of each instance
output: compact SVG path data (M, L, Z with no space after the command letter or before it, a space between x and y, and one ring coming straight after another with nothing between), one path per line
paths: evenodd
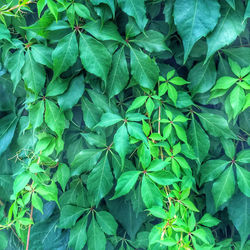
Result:
M176 178L171 172L167 171L157 171L153 173L147 173L147 176L149 176L150 179L155 183L163 186L172 185L173 183L179 181L179 179Z

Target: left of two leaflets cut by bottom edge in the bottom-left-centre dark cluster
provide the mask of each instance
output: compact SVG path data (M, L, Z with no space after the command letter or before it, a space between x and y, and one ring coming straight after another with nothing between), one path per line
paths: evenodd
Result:
M84 216L71 228L69 247L73 247L75 250L82 250L85 246L87 242L87 219L88 216Z

